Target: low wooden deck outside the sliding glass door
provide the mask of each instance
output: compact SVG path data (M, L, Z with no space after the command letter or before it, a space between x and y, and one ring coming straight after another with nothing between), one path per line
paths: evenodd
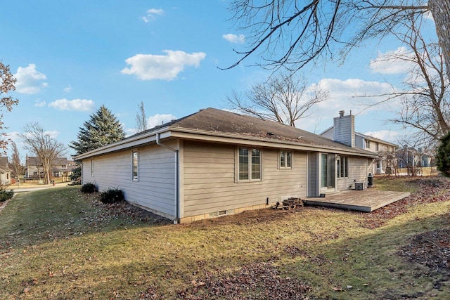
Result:
M304 204L369 212L408 197L410 194L370 188L365 190L345 190L340 193L326 195L326 197L308 197L304 200Z

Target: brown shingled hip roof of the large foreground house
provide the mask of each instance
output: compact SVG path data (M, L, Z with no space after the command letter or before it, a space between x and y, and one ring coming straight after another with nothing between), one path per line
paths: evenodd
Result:
M251 141L271 142L285 144L286 148L298 146L304 150L328 149L336 152L354 153L365 157L375 157L371 151L352 148L293 126L210 107L181 119L141 131L122 141L86 152L83 155L79 155L77 159L127 147L135 147L139 145L140 140L142 141L141 143L148 143L148 141L151 141L148 140L150 136L162 131L169 132L173 138L186 138L186 135L182 133L191 134L191 138L192 135L197 135L199 136L199 138L196 138L197 140L201 140L202 136L221 136L234 138L234 141L240 139L247 140L249 143ZM274 147L277 146L274 145Z

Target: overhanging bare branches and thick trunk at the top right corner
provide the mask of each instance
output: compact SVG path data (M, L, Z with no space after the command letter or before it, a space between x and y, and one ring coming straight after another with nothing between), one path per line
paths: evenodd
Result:
M231 11L238 29L248 33L250 40L248 50L236 51L242 58L231 67L264 52L264 63L259 65L291 71L332 54L341 45L345 54L366 39L383 38L403 26L404 18L421 18L430 12L450 77L448 0L236 0Z

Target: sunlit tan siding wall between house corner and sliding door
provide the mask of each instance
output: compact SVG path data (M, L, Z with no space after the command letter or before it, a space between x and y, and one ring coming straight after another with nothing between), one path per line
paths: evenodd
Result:
M235 145L184 142L184 216L211 214L306 195L306 155L293 152L293 168L279 169L280 150L262 148L262 181L236 182Z

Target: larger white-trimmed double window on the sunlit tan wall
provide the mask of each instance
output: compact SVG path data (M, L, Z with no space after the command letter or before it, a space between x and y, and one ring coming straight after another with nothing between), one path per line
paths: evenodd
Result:
M261 180L261 150L239 148L238 181Z

